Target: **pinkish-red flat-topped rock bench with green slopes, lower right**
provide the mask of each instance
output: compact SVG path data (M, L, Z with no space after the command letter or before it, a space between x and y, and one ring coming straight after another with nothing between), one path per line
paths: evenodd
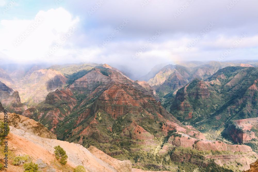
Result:
M199 140L183 133L178 134L181 136L172 136L168 139L170 145L177 147L171 154L172 161L190 162L205 168L213 159L219 166L235 162L241 164L238 166L240 170L245 170L253 159L258 157L247 145L230 145L221 141Z

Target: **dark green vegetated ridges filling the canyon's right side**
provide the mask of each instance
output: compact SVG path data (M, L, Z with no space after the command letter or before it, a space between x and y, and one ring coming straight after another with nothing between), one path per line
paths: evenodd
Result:
M254 67L226 67L207 78L207 83L196 78L176 96L169 93L162 104L184 125L202 133L223 130L233 120L257 117L258 91L249 89L257 87L257 76ZM200 82L207 88L200 87Z

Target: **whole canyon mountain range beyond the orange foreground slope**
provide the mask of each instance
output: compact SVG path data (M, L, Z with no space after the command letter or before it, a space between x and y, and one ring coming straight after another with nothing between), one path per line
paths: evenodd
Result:
M258 157L257 65L160 64L136 81L96 63L0 70L0 101L143 170L243 171Z

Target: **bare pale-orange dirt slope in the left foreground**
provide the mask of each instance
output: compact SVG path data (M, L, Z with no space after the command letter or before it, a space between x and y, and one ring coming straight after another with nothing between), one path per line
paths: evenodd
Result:
M15 154L28 154L35 160L42 159L45 163L52 165L54 168L54 146L60 145L68 155L67 164L73 168L78 165L83 165L88 171L113 172L120 169L119 165L123 165L128 167L128 170L125 170L125 172L132 170L130 168L132 166L130 162L113 162L116 167L112 167L108 163L95 157L82 145L38 137L12 126L10 126L10 134L8 135L8 138L9 149L17 150L15 151ZM106 157L111 158L108 155L106 155ZM20 169L15 170L14 167L10 167L10 169L14 172L20 172Z

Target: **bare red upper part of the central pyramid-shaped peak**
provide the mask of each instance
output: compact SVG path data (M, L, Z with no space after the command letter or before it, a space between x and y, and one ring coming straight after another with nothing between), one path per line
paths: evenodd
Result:
M113 85L104 91L94 104L95 111L102 109L111 114L114 119L129 112L141 113L148 109L149 113L157 113L171 121L178 122L154 97L145 95L138 89L125 84Z

